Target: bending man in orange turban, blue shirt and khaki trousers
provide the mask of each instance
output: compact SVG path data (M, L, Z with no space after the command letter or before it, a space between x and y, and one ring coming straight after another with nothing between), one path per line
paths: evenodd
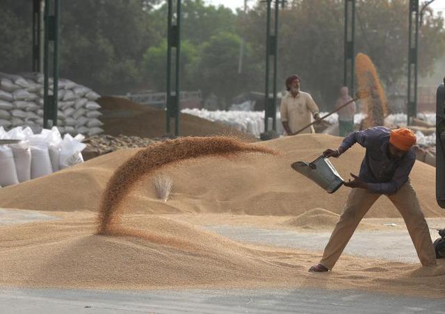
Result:
M366 148L359 175L351 174L353 180L344 183L353 190L332 231L323 258L309 272L332 270L359 222L380 195L386 195L401 213L421 264L435 266L436 256L428 224L409 179L416 161L412 150L416 136L409 129L390 130L375 126L350 133L338 149L327 149L323 154L338 158L355 143Z

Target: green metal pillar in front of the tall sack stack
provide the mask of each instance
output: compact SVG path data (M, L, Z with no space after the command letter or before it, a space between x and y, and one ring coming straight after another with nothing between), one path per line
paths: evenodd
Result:
M52 3L51 3L52 2ZM58 97L58 25L60 17L59 0L44 1L44 104L43 127L49 129L57 125ZM52 42L52 58L50 58L50 42ZM53 90L49 94L49 72L52 62Z

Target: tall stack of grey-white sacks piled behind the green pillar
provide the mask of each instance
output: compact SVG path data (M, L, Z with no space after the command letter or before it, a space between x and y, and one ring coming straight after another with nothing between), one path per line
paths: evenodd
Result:
M9 130L29 126L34 133L43 128L44 76L40 73L21 75L0 72L0 126ZM49 78L49 94L53 94ZM60 133L96 135L104 130L98 119L102 113L99 94L70 80L58 80L57 125Z

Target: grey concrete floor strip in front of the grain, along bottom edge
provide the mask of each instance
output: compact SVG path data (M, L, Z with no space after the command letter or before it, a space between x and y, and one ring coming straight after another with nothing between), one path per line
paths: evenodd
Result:
M355 290L0 289L0 313L445 313L445 301Z

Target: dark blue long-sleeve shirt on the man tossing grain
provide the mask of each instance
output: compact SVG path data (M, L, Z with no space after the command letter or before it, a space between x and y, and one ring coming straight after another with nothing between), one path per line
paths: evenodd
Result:
M413 149L401 158L390 159L387 156L390 131L384 126L355 131L346 136L340 145L343 152L356 142L366 148L359 178L368 183L371 192L385 195L394 194L408 181L416 161Z

